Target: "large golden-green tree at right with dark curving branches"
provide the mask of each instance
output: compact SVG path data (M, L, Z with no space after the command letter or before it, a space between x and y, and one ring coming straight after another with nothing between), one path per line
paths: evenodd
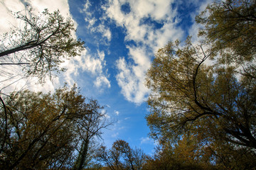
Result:
M162 149L148 169L255 167L255 79L237 77L228 64L204 64L211 54L189 40L156 53L146 79L152 90L146 120Z

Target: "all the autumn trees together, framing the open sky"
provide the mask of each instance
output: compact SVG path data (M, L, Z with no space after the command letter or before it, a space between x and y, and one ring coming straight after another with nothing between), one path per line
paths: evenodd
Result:
M60 11L13 14L22 27L1 35L1 77L18 68L43 84L85 49ZM146 72L154 154L121 139L100 145L115 122L76 84L49 93L1 86L0 169L256 169L256 1L215 0L196 22L199 40L169 42Z

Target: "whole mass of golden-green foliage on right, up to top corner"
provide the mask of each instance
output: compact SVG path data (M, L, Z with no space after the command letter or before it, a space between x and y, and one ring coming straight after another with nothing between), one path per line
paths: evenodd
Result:
M205 25L203 43L188 38L181 46L177 40L156 52L146 74L152 91L146 120L161 146L152 166L255 167L255 6L250 0L214 1L196 18ZM177 150L183 147L191 152Z

